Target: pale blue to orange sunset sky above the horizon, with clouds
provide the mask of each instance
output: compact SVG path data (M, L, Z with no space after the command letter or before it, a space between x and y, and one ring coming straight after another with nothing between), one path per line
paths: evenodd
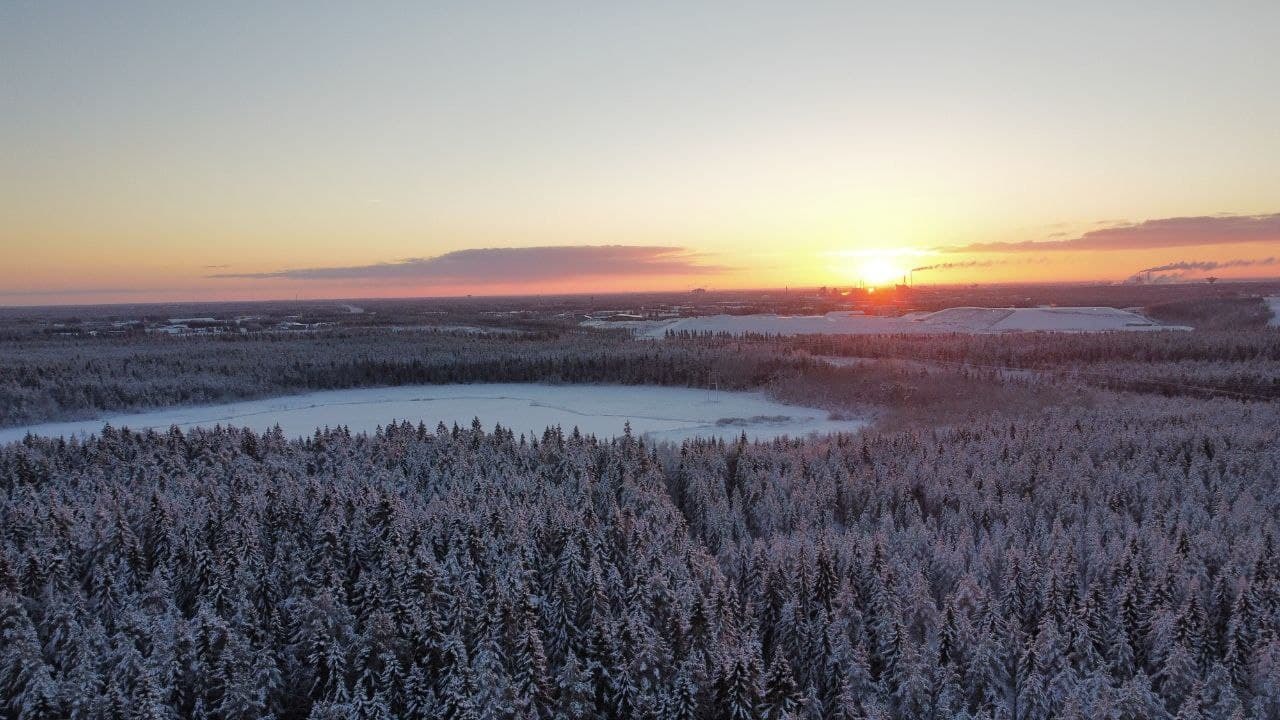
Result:
M1276 277L1276 47L1271 0L8 0L0 305Z

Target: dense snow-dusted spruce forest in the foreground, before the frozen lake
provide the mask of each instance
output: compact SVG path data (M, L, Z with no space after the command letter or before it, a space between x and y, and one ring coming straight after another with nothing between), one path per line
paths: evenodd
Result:
M6 717L1276 717L1280 413L0 450Z

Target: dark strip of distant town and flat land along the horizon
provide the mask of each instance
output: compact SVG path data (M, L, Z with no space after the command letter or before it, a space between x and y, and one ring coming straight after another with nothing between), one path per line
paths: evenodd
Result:
M626 295L444 299L298 300L261 302L99 305L3 309L6 336L247 336L380 328L404 332L541 332L586 323L596 328L705 315L902 316L955 306L1111 306L1184 323L1202 300L1261 306L1280 282L1198 284L984 284L809 287Z

